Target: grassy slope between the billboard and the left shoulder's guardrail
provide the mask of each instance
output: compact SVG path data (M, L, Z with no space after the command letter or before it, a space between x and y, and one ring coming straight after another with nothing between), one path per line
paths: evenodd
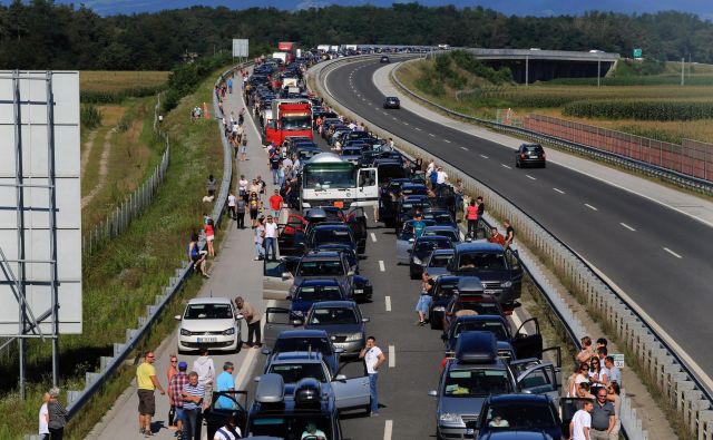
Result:
M79 390L84 375L95 371L100 355L111 355L113 344L135 327L185 260L185 245L192 231L201 227L205 176L221 179L223 149L214 120L191 123L186 115L196 102L209 102L217 72L207 76L198 89L166 116L164 128L172 143L170 166L155 202L135 219L129 229L84 262L84 333L61 339L62 389ZM153 105L150 106L153 115ZM137 110L138 115L138 110ZM137 129L138 131L138 129ZM145 129L141 129L143 134ZM130 130L127 130L130 133ZM134 135L136 136L136 135ZM140 137L140 136L139 136ZM185 299L196 294L201 278L193 277L163 313L143 345L156 346L175 327L172 316L179 313ZM12 423L0 423L1 439L17 439L37 429L41 392L50 385L50 344L33 341L28 353L28 399L17 392L17 360L0 365L0 411ZM135 369L123 368L82 413L68 426L70 439L80 439L128 387Z

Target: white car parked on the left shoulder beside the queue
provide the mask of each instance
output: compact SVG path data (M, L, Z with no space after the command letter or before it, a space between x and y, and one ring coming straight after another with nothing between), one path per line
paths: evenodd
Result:
M209 350L235 351L241 345L241 320L226 297L195 297L188 301L178 325L178 352Z

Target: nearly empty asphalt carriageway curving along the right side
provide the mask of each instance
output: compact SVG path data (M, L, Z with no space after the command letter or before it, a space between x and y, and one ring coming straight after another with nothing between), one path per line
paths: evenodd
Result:
M711 227L556 164L517 169L510 148L406 109L384 110L372 80L381 67L374 60L342 65L328 75L326 86L367 121L437 162L457 164L518 205L626 292L703 371L713 370L713 353L700 350L711 333Z

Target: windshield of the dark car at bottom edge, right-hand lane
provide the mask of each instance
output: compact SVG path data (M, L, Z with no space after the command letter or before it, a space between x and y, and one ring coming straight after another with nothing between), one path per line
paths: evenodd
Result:
M512 402L488 407L486 421L490 429L537 430L559 424L547 403Z

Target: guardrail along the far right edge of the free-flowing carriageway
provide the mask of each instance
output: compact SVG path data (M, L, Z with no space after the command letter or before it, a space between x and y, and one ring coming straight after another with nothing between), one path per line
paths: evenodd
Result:
M400 67L400 66L399 66ZM702 178L697 178L697 177L693 177L683 173L678 173L675 172L673 169L670 168L664 168L657 165L653 165L653 164L647 164L645 162L642 160L636 160L633 159L631 157L626 157L624 155L619 155L616 153L612 153L612 151L605 151L603 149L599 148L595 148L588 145L584 145L584 144L578 144L578 143L574 143L574 141L569 141L566 139L561 139L559 137L553 136L553 135L546 135L543 133L538 133L538 131L534 131L534 130L529 130L527 128L521 128L521 127L512 127L509 125L505 125L505 124L500 124L500 123L496 123L494 120L489 120L489 119L482 119L482 118L477 118L475 116L470 116L470 115L466 115L466 114L461 114L459 111L453 111L451 109L449 109L448 107L443 107L439 104L432 102L428 99L426 99L424 97L418 95L417 92L410 90L408 87L406 87L400 80L399 78L394 75L395 70L399 69L399 67L397 67L394 70L391 71L391 80L407 95L411 96L412 98L424 102L431 107L436 107L439 110L450 115L450 116L455 116L457 118L460 119L466 119L499 131L505 131L505 133L509 133L516 136L522 136L526 137L528 139L533 139L539 143L546 143L546 144L551 144L555 145L559 148L563 148L565 150L568 151L573 151L573 153L577 153L577 154L584 154L586 156L589 157L594 157L598 160L602 162L606 162L606 163L611 163L611 164L615 164L617 166L621 166L623 168L626 169L632 169L638 173L643 173L653 177L657 177L671 183L674 183L676 185L680 185L682 187L695 190L695 192L700 192L706 195L713 195L713 182L710 180L705 180Z

